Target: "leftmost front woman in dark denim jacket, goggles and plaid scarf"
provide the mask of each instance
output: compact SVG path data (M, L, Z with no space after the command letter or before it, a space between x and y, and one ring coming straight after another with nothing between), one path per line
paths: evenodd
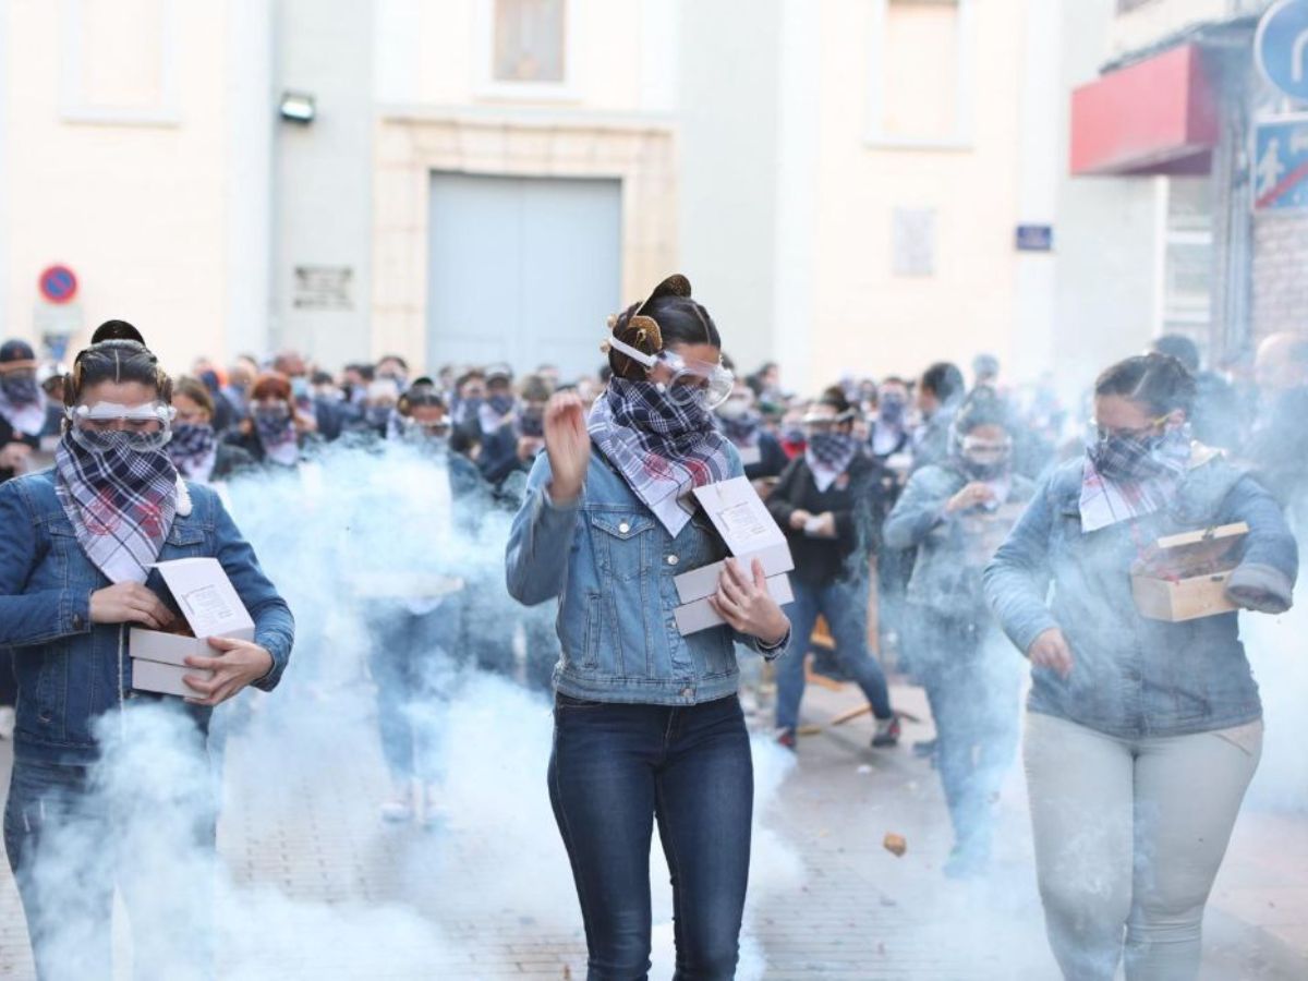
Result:
M116 713L126 726L131 708L166 697L132 691L127 657L132 625L167 629L178 620L160 598L164 586L150 566L217 559L255 623L252 641L216 637L209 641L215 657L187 661L213 671L211 680L188 676L194 697L177 704L194 723L196 742L215 705L250 684L272 689L290 655L294 624L286 604L218 497L181 480L164 449L170 396L171 382L140 334L109 322L73 362L65 385L69 421L55 467L0 487L0 645L14 650L18 674L4 838L42 978L109 977L115 879L129 908L129 886L143 886L131 875L128 855L115 855L126 835L118 807L131 802L97 789L95 764L103 717ZM184 783L169 802L177 814L157 818L167 824L184 815L201 854L212 855L215 804L188 793L211 785L203 773ZM63 882L69 869L75 882ZM178 922L194 925L203 920L188 916L207 899L203 882L190 886L169 903ZM169 933L164 923L153 931L164 937L137 946L139 974L177 976L179 964L207 972L207 938L191 929ZM178 948L158 946L167 947L169 937ZM153 963L150 952L167 967Z

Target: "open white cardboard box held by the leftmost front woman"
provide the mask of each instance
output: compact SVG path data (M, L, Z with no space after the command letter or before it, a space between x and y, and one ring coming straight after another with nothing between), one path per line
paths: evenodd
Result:
M128 637L132 658L132 688L179 697L195 697L182 678L194 675L208 680L213 672L187 667L191 655L220 657L209 646L209 637L254 640L254 620L241 603L232 581L217 559L177 559L154 565L167 583L192 637L133 627Z

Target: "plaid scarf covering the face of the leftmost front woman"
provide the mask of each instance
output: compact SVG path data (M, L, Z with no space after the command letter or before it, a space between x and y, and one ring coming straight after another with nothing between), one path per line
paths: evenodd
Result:
M55 471L59 504L92 564L110 582L145 582L177 517L177 470L167 454L139 453L126 441L92 453L65 434Z

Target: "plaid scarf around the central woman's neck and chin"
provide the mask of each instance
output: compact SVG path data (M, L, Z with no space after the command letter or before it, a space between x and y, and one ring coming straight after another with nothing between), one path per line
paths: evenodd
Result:
M730 476L727 442L697 403L678 405L653 382L613 378L590 411L591 438L674 538L695 513L691 492Z

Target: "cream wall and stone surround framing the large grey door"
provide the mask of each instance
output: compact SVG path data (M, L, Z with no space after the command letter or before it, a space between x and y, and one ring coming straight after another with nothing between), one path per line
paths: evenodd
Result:
M623 182L621 294L676 268L676 7L569 0L561 85L490 77L492 0L378 0L374 354L426 362L433 170Z

